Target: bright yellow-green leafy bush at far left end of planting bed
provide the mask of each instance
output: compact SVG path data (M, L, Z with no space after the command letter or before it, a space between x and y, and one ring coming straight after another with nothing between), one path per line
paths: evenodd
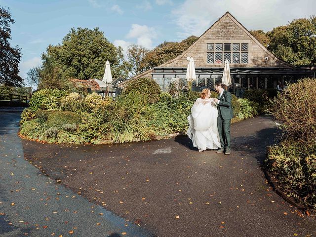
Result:
M30 107L34 109L58 110L61 98L67 95L64 90L42 89L32 95Z

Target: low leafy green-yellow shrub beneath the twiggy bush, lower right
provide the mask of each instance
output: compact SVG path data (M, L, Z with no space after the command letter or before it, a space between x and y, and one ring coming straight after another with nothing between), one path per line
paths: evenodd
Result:
M283 192L316 210L316 147L289 138L269 147L265 163Z

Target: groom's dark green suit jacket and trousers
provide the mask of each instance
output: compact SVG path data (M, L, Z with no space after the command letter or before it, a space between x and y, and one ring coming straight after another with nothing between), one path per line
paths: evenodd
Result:
M217 128L221 140L222 148L231 148L231 119L234 117L232 107L232 94L226 90L222 96L218 96L219 103L217 106L218 118Z

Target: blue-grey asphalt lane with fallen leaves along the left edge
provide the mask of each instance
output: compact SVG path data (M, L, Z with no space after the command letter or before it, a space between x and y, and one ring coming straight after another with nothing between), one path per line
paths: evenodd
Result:
M0 237L147 237L24 159L19 108L0 109Z

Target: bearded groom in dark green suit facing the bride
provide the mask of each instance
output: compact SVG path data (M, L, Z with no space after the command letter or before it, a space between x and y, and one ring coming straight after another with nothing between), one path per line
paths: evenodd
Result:
M221 148L216 153L225 155L231 154L231 119L234 117L232 107L232 94L224 90L221 82L215 83L215 90L219 93L218 99L214 98L218 104L217 128L221 140Z

